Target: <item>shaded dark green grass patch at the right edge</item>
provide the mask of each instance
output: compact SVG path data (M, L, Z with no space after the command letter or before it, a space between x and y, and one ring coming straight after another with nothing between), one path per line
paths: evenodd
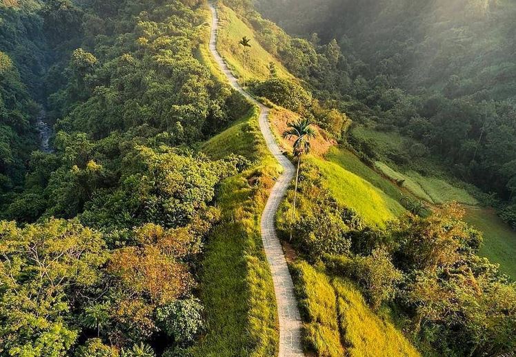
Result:
M500 265L500 271L516 281L516 232L492 210L468 208L464 221L484 233L480 256Z

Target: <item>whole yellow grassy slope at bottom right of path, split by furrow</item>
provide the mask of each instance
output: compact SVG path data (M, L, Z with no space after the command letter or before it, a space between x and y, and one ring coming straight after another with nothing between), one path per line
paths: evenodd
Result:
M331 278L304 261L292 265L304 315L306 345L317 356L419 356L392 323L381 320L348 281Z

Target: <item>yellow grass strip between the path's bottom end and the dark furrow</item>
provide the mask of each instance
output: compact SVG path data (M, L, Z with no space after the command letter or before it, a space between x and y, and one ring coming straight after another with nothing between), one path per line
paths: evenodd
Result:
M304 320L303 342L317 356L344 356L340 343L335 291L328 276L304 261L291 266L299 309Z

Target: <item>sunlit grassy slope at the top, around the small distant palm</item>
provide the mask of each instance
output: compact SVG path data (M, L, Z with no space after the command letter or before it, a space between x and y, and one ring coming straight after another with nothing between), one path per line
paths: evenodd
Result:
M284 78L294 78L275 57L261 47L255 32L230 8L219 3L217 6L220 26L217 35L217 50L224 58L233 74L238 78L244 76L244 48L239 45L242 37L250 39L250 48L246 50L246 80L267 79L270 76L269 63L274 63L277 74Z

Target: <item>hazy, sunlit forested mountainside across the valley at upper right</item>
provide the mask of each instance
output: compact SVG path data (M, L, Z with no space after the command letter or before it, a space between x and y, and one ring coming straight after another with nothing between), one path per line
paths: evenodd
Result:
M513 1L262 0L259 8L316 48L338 45L338 81L305 76L317 90L344 99L355 121L417 139L459 179L495 192L515 225Z

